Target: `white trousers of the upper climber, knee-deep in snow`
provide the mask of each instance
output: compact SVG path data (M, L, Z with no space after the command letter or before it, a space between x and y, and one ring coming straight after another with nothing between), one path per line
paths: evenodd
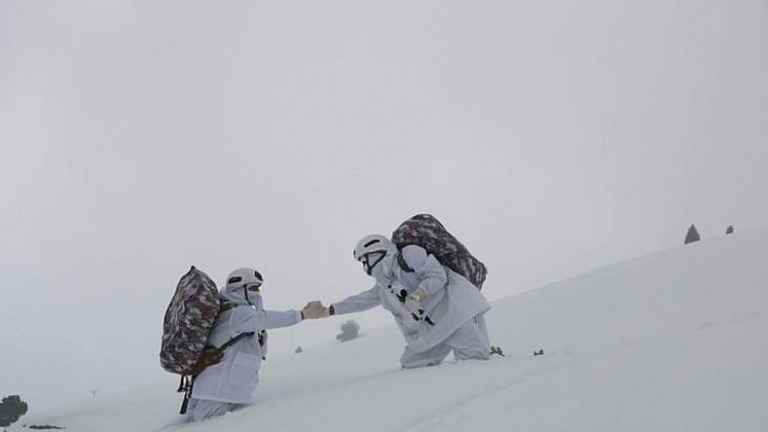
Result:
M415 352L406 345L400 365L406 369L438 365L451 351L457 361L488 359L490 341L483 315L470 319L446 340L426 351Z

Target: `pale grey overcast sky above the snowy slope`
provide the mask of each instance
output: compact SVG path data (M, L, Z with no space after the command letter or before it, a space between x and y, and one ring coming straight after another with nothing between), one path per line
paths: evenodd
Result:
M0 356L155 350L190 264L340 300L418 212L490 299L766 226L767 76L764 0L2 1Z

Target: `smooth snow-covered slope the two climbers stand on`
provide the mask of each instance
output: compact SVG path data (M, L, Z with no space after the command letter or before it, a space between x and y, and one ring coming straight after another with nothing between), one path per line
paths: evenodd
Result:
M255 406L181 429L768 430L768 231L687 245L503 299L488 324L507 357L400 370L401 340L387 326L270 358ZM545 355L533 356L539 349ZM178 409L175 385L169 377L100 395L10 430L156 430Z

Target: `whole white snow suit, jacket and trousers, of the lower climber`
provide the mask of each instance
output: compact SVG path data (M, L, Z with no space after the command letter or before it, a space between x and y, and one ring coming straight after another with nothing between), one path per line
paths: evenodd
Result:
M208 344L221 346L242 332L253 331L254 336L227 348L220 363L208 366L195 377L189 409L176 423L220 416L253 403L263 356L258 332L293 326L302 320L300 311L265 311L258 292L222 288L220 297L235 306L216 317Z

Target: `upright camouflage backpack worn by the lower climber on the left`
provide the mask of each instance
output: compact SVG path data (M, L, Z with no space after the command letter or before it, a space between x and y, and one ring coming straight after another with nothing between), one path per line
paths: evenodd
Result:
M181 277L163 320L161 366L181 376L192 374L219 313L216 284L192 266Z

